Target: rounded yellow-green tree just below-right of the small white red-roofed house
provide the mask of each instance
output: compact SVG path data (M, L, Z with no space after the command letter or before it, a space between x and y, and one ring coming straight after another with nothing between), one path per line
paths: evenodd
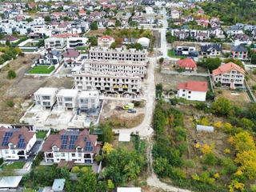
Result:
M215 102L213 102L210 106L210 109L214 114L222 114L227 115L230 113L232 106L230 104L230 100L227 98L218 98Z

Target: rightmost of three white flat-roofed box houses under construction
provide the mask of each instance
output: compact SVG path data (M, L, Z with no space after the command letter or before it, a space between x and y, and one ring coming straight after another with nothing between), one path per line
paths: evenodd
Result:
M78 95L78 107L81 111L98 108L99 94L98 91L81 91Z

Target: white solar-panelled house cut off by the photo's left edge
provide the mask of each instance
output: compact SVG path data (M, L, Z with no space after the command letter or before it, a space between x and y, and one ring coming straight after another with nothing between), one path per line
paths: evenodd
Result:
M26 127L22 127L21 129L9 129L1 126L0 158L4 160L27 159L36 141L36 132L30 131Z

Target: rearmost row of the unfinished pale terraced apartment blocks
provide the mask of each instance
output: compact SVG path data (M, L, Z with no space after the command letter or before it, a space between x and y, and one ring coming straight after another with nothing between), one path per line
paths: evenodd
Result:
M91 47L89 50L89 58L97 60L145 62L147 59L147 50L126 50L125 46L116 49Z

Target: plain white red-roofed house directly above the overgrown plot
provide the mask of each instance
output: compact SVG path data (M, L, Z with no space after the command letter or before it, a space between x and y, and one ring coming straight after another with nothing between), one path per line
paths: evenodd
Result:
M207 82L188 81L186 83L178 83L178 98L186 98L192 101L206 101L206 93L208 90Z

